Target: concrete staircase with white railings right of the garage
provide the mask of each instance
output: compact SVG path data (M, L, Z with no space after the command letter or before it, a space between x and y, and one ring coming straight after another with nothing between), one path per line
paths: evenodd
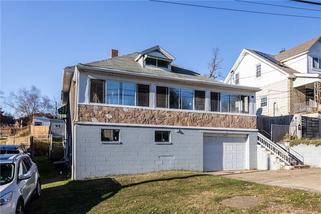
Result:
M284 144L274 143L261 133L257 133L257 143L268 156L270 169L309 168L304 165L303 156Z

